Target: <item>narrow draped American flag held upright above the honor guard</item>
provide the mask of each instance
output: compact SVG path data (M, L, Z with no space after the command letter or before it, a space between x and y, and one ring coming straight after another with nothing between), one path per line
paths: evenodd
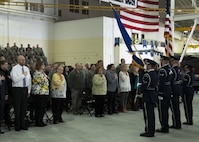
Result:
M172 26L171 26L171 16L170 16L170 0L167 0L166 4L164 38L165 38L165 54L168 57L173 56L173 47L172 47L173 37L172 37Z

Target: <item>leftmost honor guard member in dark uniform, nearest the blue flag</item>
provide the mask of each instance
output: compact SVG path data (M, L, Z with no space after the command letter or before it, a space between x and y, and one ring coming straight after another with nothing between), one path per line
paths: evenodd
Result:
M157 63L150 59L145 59L146 72L142 78L141 92L143 93L143 114L145 121L145 132L143 137L154 137L155 133L155 113L154 107L157 103L158 74L155 71Z

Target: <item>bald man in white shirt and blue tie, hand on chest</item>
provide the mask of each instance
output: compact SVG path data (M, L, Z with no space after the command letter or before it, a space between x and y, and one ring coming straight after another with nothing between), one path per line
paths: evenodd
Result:
M17 57L18 64L10 73L12 79L12 97L15 112L15 130L28 130L25 126L28 95L31 90L31 76L28 67L25 66L25 57Z

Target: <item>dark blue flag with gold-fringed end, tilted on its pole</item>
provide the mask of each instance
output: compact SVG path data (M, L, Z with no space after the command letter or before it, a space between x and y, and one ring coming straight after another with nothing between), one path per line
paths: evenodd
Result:
M113 12L114 12L114 15L115 15L115 18L117 20L117 24L118 24L118 27L120 29L120 32L122 34L122 37L124 39L124 42L126 44L126 47L128 48L128 51L129 53L131 53L133 56L132 56L132 59L133 59L133 62L139 66L140 68L143 68L144 67L144 63L143 61L138 58L136 55L135 55L135 52L132 50L131 48L131 44L132 44L132 39L130 38L130 36L128 35L124 25L122 24L121 20L120 20L120 17L118 16L117 12L115 11L115 9L113 8Z

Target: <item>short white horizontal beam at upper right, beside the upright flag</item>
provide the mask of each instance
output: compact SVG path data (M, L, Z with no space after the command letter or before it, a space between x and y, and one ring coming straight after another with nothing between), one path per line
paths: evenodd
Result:
M173 17L173 20L176 21L185 21L185 20L194 20L199 18L199 14L180 14L180 15L175 15Z

